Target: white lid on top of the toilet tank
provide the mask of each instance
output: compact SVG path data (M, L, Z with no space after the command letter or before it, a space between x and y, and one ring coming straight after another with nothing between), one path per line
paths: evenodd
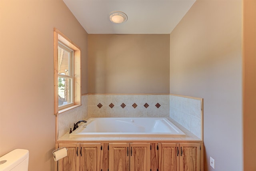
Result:
M0 165L0 171L5 169L12 169L25 159L29 157L29 152L26 149L15 149L6 155L0 157L0 162L6 160L5 163Z

